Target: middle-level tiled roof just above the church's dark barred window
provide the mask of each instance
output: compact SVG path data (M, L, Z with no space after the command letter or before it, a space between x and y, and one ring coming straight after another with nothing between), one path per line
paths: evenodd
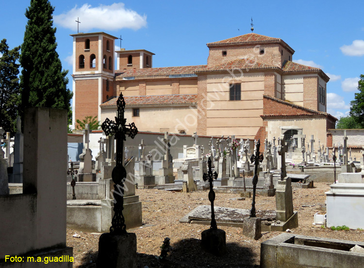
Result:
M237 59L232 62L223 63L211 67L200 68L196 72L208 72L208 71L227 71L227 70L241 70L241 69L271 69L277 68L273 65L267 65L265 63L259 63L250 59Z

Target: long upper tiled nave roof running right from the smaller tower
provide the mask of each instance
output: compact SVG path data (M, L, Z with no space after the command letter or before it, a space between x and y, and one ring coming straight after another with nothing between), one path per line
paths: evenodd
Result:
M142 69L128 69L115 71L116 80L130 79L130 78L163 78L184 75L195 75L195 71L206 67L207 65L193 65L193 66L177 66L177 67L160 67L160 68L142 68Z

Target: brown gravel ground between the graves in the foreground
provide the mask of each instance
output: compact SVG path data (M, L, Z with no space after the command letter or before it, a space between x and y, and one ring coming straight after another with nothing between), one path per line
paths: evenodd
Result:
M321 236L336 239L363 241L364 231L332 231L329 228L313 227L314 213L322 212L325 204L325 192L329 183L315 183L313 189L293 189L294 210L298 211L299 227L294 234ZM209 226L180 223L179 220L199 205L210 205L208 191L191 193L170 192L155 189L137 189L136 194L142 201L143 226L130 229L137 237L138 268L258 268L260 262L260 244L281 232L264 232L262 238L253 240L242 235L241 228L218 226L226 232L228 253L216 257L203 252L200 247L201 232ZM231 200L238 194L216 193L215 205L232 208L251 208L251 198ZM275 197L256 196L256 208L271 210L276 208ZM79 234L81 237L73 237ZM100 234L90 234L67 229L67 246L73 247L75 268L96 267ZM172 252L164 262L156 259L165 237L169 237Z

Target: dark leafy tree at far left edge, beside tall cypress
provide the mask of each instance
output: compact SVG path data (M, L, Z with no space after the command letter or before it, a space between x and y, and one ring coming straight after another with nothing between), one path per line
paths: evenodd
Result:
M16 119L19 105L19 59L20 47L9 50L6 39L0 43L0 126L10 131L13 136L16 132Z

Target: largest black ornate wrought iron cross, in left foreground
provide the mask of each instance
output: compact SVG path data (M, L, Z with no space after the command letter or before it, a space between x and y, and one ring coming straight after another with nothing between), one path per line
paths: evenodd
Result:
M124 118L125 110L125 100L120 93L119 98L116 101L117 114L115 117L115 122L111 121L109 118L102 123L101 128L105 132L106 136L115 135L116 139L116 166L113 169L111 177L115 183L114 185L114 217L111 221L110 233L115 235L126 234L125 219L123 216L124 209L124 181L126 179L126 170L123 166L123 148L124 141L126 141L126 135L134 139L135 135L138 133L138 129L131 123L126 125L126 119ZM121 191L119 193L118 191Z

